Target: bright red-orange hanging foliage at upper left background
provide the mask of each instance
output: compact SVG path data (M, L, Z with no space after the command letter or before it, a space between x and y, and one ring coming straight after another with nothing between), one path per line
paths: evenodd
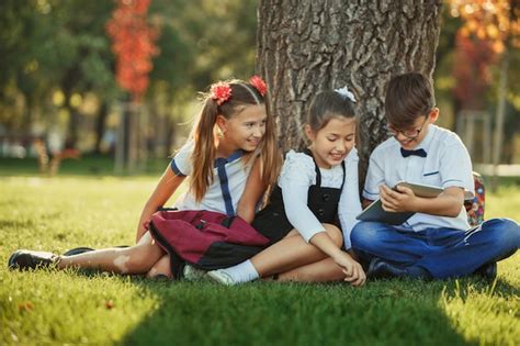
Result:
M150 0L117 0L117 7L106 23L106 31L113 40L112 51L117 55L117 82L136 102L148 88L151 57L159 53L154 44L159 32L147 22L149 4Z

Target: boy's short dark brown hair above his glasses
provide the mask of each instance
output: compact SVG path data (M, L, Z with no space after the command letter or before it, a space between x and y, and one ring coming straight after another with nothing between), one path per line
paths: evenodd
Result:
M428 115L434 105L431 83L419 72L396 76L386 87L386 120L397 129L410 126L417 118Z

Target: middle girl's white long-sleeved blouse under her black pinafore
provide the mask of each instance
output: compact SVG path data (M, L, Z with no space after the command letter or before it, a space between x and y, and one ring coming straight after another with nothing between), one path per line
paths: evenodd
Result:
M353 148L346 158L346 174L341 165L330 169L319 168L321 174L321 187L341 188L338 216L343 232L344 247L350 245L350 232L358 222L355 216L361 212L358 186L358 150ZM283 204L291 224L296 228L306 242L319 232L325 232L318 217L307 205L308 189L316 185L316 169L314 160L304 153L291 150L285 157L282 172L278 185L282 188Z

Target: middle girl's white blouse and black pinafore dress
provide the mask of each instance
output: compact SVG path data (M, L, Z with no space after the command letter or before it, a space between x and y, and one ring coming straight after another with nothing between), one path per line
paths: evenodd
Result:
M256 215L252 226L272 244L293 228L309 242L325 232L323 223L336 224L343 232L344 247L350 248L350 232L361 211L358 161L353 148L341 165L325 169L309 150L290 150L270 203Z

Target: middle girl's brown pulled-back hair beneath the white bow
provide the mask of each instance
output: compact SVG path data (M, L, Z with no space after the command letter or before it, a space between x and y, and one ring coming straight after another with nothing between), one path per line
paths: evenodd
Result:
M321 91L310 102L307 124L317 132L337 116L355 118L353 102L338 91Z

